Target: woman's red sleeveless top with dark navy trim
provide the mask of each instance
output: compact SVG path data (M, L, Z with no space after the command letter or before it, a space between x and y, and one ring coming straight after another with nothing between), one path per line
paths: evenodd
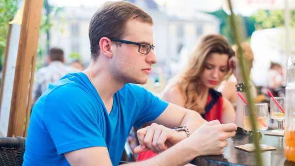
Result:
M214 89L209 89L208 99L205 107L205 114L202 114L202 117L209 121L219 120L221 122L223 109L223 98L220 92L215 91ZM140 153L136 161L143 161L149 158L156 156L151 150Z

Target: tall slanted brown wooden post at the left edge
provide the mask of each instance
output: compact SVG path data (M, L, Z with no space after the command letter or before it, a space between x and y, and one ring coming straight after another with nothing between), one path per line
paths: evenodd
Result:
M25 118L30 114L31 90L43 0L26 0L15 68L7 136L25 136ZM29 89L28 89L29 87ZM29 113L28 113L29 112ZM27 125L29 116L27 117Z

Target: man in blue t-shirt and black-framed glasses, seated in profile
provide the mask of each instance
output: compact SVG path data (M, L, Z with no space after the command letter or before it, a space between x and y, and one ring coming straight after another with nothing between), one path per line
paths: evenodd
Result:
M157 62L152 25L146 12L127 1L97 10L89 25L91 63L50 84L37 100L24 166L117 166L132 126L147 122L152 125L137 132L134 151L161 153L126 166L183 166L222 153L235 124L206 122L135 85L147 82Z

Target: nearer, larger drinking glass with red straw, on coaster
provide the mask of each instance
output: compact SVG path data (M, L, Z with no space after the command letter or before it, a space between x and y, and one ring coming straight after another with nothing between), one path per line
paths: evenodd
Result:
M252 132L261 132L268 129L268 107L267 103L253 103L252 104L254 118L256 121L256 131L253 131L251 120L250 120L250 108L248 104L244 105L244 129ZM260 148L264 149L267 147L266 144L259 144ZM246 148L255 149L253 143L244 145Z

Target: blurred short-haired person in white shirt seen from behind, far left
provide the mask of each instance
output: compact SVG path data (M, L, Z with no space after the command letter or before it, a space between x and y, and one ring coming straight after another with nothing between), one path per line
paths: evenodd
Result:
M60 48L51 48L47 56L48 66L39 68L34 75L34 84L32 90L32 105L48 88L49 83L57 82L62 76L70 72L77 72L78 69L65 65L63 50Z

